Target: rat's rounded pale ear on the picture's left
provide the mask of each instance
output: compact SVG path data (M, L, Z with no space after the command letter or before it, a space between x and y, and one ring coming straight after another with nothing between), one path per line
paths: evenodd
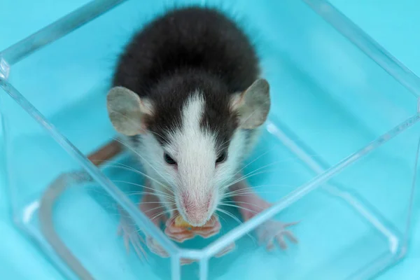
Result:
M144 132L143 117L151 114L151 104L125 87L113 87L106 96L109 119L116 131L127 136Z

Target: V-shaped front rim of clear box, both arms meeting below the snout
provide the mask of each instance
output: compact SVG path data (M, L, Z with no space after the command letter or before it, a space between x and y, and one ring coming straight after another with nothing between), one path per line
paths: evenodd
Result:
M355 153L352 153L336 165L333 165L330 167L330 169L327 169L325 172L312 177L311 180L288 193L286 197L283 197L281 200L279 200L279 202L273 204L272 207L269 207L261 214L251 218L249 221L238 225L234 229L230 230L230 232L227 232L222 237L219 237L205 248L200 250L184 249L180 248L177 244L166 237L162 231L156 228L155 225L153 225L153 223L151 223L151 221L148 220L148 218L143 213L141 213L137 207L135 207L130 199L128 199L125 194L109 180L108 177L100 172L99 169L97 169L97 167L95 167L92 162L90 162L85 157L85 155L83 155L83 153L81 153L78 148L76 148L76 146L73 146L73 144L71 144L71 142L66 139L66 137L64 137L58 130L56 130L55 127L53 127L48 122L48 120L43 117L41 113L38 112L35 107L32 106L27 101L27 99L25 99L25 97L23 97L22 94L20 94L20 92L18 92L18 90L13 87L13 85L10 85L10 83L8 83L6 80L0 78L0 87L2 87L6 94L9 94L10 97L15 102L17 102L26 113L29 114L29 116L34 118L34 120L36 120L36 122L41 125L43 129L45 129L48 134L50 134L50 136L55 139L58 144L60 144L60 146L62 146L64 151L71 155L71 157L73 157L80 164L80 166L83 167L83 169L85 169L85 171L87 171L90 176L92 176L92 179L97 181L97 183L99 183L104 188L104 190L106 190L106 192L109 193L109 195L111 195L111 197L113 197L113 199L116 200L116 202L118 202L134 218L135 222L141 225L150 225L148 228L151 230L151 233L157 237L157 241L160 242L160 244L162 244L162 246L164 246L164 248L169 251L171 256L179 255L183 258L197 258L200 260L204 258L211 258L213 255L218 253L218 251L221 251L223 248L225 248L225 246L228 246L232 241L236 241L237 239L246 235L246 233L256 228L258 225L264 223L269 218L272 218L272 216L279 214L283 209L290 206L294 202L297 202L297 200L300 200L300 198L304 195L310 193L311 190L318 188L321 183L332 179L335 174L341 172L343 169L345 169L345 167L351 165L353 162L356 162L360 158L363 158L365 155L367 155L367 153L376 150L376 148L404 132L408 127L414 125L420 120L420 114L416 113L414 116L408 118L400 125L397 125L390 131L381 135L381 137L371 141L370 144L367 144L367 146L361 148Z

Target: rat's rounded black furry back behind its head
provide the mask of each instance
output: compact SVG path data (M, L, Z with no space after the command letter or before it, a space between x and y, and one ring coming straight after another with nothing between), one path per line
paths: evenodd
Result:
M113 85L153 99L158 83L182 73L221 81L226 94L241 92L258 78L258 58L244 32L223 13L181 8L157 18L132 38L120 57Z

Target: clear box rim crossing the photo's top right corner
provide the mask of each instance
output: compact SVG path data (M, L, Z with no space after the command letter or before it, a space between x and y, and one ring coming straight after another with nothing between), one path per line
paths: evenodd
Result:
M377 41L367 35L354 22L341 13L335 6L326 0L301 0L315 13L334 27L340 34L349 39L351 43L362 50L376 64L381 66L401 85L407 88L415 97L420 97L420 78L411 70L393 57Z

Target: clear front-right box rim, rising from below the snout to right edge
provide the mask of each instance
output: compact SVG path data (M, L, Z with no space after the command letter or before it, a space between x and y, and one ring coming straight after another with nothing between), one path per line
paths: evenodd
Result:
M325 172L314 176L313 179L307 183L304 183L302 186L283 197L281 200L279 200L279 202L276 202L272 207L269 207L269 209L263 211L261 214L258 214L254 218L251 218L251 220L238 225L236 228L223 235L223 237L209 244L209 246L202 250L202 258L211 258L211 256L225 248L225 246L228 246L232 242L235 242L237 239L243 237L248 232L258 227L258 225L265 223L269 218L279 214L286 207L290 207L290 205L297 202L297 200L300 200L300 198L304 197L304 195L307 195L312 190L318 188L322 183L325 183L333 176L339 174L339 172L342 172L345 167L353 164L368 153L376 150L379 146L382 146L386 142L399 135L401 132L407 130L408 127L412 127L412 125L417 123L419 120L420 115L416 113L414 116L407 118L407 120L400 123L400 125L397 125L385 134L382 134L377 139L374 139L369 144L367 144L367 146L361 148L359 151L356 151L356 153L353 153L347 158L344 158L341 162L338 162L336 165L325 170Z

